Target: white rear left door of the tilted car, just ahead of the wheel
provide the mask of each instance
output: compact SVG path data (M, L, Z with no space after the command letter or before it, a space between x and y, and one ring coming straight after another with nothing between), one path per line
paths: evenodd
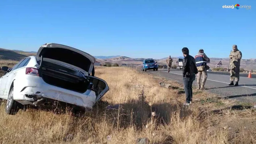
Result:
M10 91L10 86L11 86L11 84L12 84L12 82L13 82L15 76L16 76L16 73L18 73L18 71L20 69L22 69L25 65L27 65L29 60L30 60L30 58L25 58L24 60L22 60L20 62L20 64L16 67L16 69L14 69L12 71L12 73L9 74L9 77L7 78L7 82L5 84L5 91L4 91L5 92L4 93L5 96L8 97L8 94L9 94L9 91Z

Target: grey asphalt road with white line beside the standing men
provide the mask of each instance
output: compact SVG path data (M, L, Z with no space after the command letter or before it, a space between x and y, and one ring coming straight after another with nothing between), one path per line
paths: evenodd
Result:
M166 69L158 71L148 70L146 73L160 75L170 80L183 83L182 70L172 69L170 73ZM230 76L226 73L209 72L205 83L208 92L215 93L219 97L236 99L243 102L256 102L256 78L247 78L248 75L240 75L239 86L229 86ZM197 80L197 77L196 77ZM196 80L193 86L196 87Z

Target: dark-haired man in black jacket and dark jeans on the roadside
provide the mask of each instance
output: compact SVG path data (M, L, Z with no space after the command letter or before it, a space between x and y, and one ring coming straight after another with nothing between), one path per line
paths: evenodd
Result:
M182 49L183 53L183 82L184 82L184 90L186 94L186 102L185 105L189 105L192 101L192 84L196 78L196 74L198 73L196 67L196 60L194 57L189 55L188 48Z

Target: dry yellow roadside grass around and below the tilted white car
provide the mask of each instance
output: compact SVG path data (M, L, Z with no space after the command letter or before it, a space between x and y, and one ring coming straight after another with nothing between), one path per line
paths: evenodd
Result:
M256 143L253 109L225 109L236 103L201 91L193 96L199 101L184 107L180 84L123 67L97 67L95 72L110 91L92 112L74 115L28 109L12 116L5 114L3 102L0 143L135 144L144 137L152 144ZM178 88L160 87L161 81ZM108 104L118 104L118 108L107 110ZM73 139L64 142L69 134Z

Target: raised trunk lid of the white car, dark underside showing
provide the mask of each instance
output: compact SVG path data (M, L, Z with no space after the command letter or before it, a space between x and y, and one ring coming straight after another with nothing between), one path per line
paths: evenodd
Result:
M37 60L41 57L65 62L85 70L89 74L93 70L95 58L90 54L67 45L46 43L37 52Z

